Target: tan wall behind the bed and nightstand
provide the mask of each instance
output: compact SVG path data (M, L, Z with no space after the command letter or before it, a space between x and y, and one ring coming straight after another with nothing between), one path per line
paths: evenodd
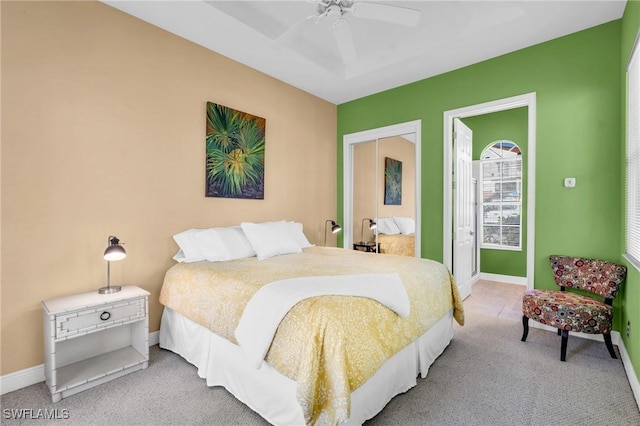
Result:
M104 285L110 234L150 331L174 233L286 218L322 243L335 105L102 3L0 4L1 374L43 362L41 300ZM207 101L266 119L264 200L204 196Z

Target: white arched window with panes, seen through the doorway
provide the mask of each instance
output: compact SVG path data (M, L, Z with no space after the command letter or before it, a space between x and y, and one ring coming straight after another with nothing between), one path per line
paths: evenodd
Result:
M482 248L522 249L522 151L512 141L492 142L480 157Z

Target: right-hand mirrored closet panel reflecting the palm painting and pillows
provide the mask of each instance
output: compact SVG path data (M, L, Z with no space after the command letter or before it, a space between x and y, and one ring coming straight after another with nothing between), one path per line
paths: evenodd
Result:
M377 243L380 253L415 256L414 134L378 140Z

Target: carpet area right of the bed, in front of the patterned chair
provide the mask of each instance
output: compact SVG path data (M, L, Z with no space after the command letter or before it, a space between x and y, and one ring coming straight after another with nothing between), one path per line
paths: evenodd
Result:
M640 425L620 360L604 343L472 317L418 386L370 425Z

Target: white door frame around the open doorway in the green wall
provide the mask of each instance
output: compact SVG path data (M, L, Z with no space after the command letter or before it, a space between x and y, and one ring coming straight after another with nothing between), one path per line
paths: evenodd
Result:
M456 245L454 244L455 228L454 217L457 214L454 211L456 204L454 203L453 176L456 170L455 144L454 144L454 120L456 118L475 117L479 115L489 114L493 112L506 111L514 108L527 107L527 169L528 169L528 187L527 187L527 265L526 265L526 283L527 289L533 288L534 283L534 247L535 247L535 139L536 139L536 94L528 93L524 95L514 96L505 99L499 99L477 105L471 105L464 108L449 110L444 112L443 134L444 134L444 200L443 200L443 263L451 270L455 270L456 264ZM480 268L475 268L479 273ZM455 274L455 273L454 273ZM477 281L478 276L458 283L459 291L462 297L471 294L473 283Z

